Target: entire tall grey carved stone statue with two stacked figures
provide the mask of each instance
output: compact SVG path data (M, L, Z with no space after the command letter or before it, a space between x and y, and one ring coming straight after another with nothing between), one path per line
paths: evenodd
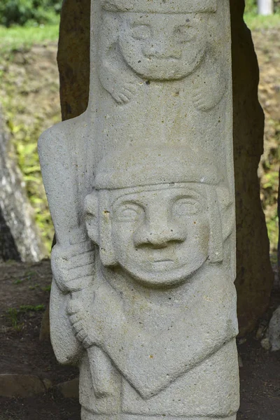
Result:
M87 111L38 145L57 359L80 366L83 420L234 420L229 4L94 1L92 18Z

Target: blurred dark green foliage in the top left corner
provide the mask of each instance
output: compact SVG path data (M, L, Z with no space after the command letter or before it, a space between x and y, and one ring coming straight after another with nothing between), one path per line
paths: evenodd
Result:
M62 0L1 0L0 25L54 24L61 6Z

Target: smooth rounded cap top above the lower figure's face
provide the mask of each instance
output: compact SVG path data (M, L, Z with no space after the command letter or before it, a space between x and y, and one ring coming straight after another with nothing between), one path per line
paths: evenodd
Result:
M184 182L217 186L222 181L214 157L198 154L188 146L160 144L128 146L106 156L97 166L94 188L116 190Z

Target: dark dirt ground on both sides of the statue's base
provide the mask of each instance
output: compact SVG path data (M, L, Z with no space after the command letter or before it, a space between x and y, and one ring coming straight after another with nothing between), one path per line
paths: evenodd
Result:
M75 367L59 366L50 342L39 340L44 307L48 304L50 261L0 265L0 373L34 374L52 385L73 379ZM280 304L280 289L261 325ZM241 406L237 420L279 420L280 352L262 349L253 332L238 340ZM0 420L80 420L78 400L62 398L50 388L34 398L0 398Z

